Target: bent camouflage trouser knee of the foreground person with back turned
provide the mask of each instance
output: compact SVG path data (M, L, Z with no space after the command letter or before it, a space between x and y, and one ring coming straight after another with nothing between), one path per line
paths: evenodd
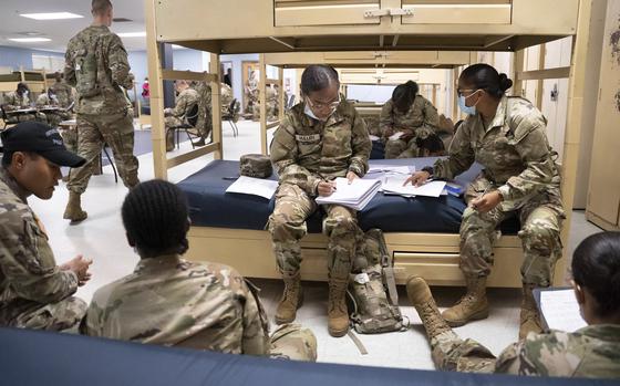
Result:
M269 356L277 359L317 362L317 337L299 324L283 324L270 338Z

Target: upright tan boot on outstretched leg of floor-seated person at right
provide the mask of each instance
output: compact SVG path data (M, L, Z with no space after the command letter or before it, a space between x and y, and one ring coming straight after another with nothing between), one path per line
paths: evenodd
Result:
M406 289L407 298L417 311L430 340L452 330L440 313L437 304L431 294L431 289L424 279L420 277L410 278Z

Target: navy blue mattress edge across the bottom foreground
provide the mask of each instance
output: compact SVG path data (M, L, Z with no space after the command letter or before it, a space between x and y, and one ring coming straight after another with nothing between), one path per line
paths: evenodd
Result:
M0 328L2 385L618 385L569 379L300 363L89 336Z

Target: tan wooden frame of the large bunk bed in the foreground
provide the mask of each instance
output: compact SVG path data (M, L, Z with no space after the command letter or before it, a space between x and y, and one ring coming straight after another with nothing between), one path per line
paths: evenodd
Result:
M221 159L219 87L216 86L220 79L219 54L262 52L262 69L267 63L278 64L275 58L281 55L280 64L283 69L294 64L290 56L283 55L290 53L306 56L302 61L306 64L321 63L320 55L324 59L338 52L344 52L344 56L352 59L355 59L358 52L368 58L382 53L385 60L399 60L404 51L417 51L418 55L428 54L435 59L450 56L458 51L513 51L514 94L520 94L526 80L570 77L562 196L565 207L571 208L591 1L566 0L562 7L558 7L554 0L230 0L224 3L148 0L146 21L149 79L153 80L151 103L155 175L166 178L168 168L209 153L214 154L215 159ZM551 14L552 18L549 17ZM230 15L235 18L231 19ZM523 71L524 49L562 36L574 38L569 67ZM175 43L210 52L210 73L163 69L161 63L164 46L159 43ZM311 59L311 54L316 55L314 59ZM338 63L343 60L347 58L327 62L338 65L344 64ZM404 62L406 66L415 63L411 62L411 58ZM469 62L467 60L463 64ZM261 71L262 95L267 83L281 82L281 71L279 80L268 80L266 72ZM167 158L162 81L172 79L211 82L214 134L211 144ZM267 150L265 134L270 127L265 122L265 108L262 103L264 152ZM568 246L570 226L570 210L567 211L568 219L562 230L565 246ZM417 273L432 284L462 284L458 239L458 234L452 233L386 233L389 249L396 263L399 283L403 283L411 273ZM248 277L279 277L267 231L193 227L189 244L189 258L208 258L227 263ZM322 234L308 234L302 240L303 279L327 279L326 248L327 239ZM564 283L566 253L565 248L565 257L556 267L555 284ZM495 246L495 267L489 285L520 286L518 272L521 259L519 239L516 236L502 237Z

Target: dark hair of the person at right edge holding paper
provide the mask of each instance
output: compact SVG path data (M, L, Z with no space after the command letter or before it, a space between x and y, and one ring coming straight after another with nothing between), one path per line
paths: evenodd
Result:
M620 232L586 238L572 254L572 279L597 301L597 315L620 313Z

